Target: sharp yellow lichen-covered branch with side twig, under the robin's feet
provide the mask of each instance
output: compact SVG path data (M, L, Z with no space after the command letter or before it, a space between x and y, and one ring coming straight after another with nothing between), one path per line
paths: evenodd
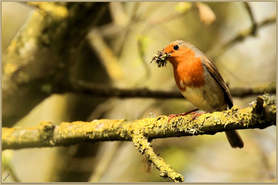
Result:
M145 153L160 176L175 182L183 181L162 158L154 154L150 139L216 134L228 130L263 129L276 125L276 98L258 96L252 107L203 114L195 120L192 115L175 117L169 123L167 116L127 120L93 120L91 122L63 122L55 126L48 121L32 128L2 128L2 150L34 147L69 146L83 142L132 141L142 154Z

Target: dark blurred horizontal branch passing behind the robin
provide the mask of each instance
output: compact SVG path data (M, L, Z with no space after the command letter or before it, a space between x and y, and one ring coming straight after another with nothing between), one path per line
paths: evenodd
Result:
M103 96L103 97L119 97L119 98L183 98L184 96L178 90L150 90L147 88L140 89L119 89L116 87L94 84L82 80L72 79L68 89L57 91L56 93L84 93L87 95ZM236 87L230 88L233 97L245 97L248 95L259 95L264 92L276 93L276 84L262 85L255 87Z

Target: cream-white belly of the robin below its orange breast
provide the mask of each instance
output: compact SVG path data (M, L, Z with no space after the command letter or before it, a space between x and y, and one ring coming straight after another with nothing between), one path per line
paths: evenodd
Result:
M186 87L184 91L181 91L183 96L190 101L198 109L207 111L213 107L210 107L207 100L204 99L203 88L202 87Z

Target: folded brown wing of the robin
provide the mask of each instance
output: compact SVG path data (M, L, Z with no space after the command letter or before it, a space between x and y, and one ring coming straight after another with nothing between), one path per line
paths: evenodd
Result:
M223 77L221 76L221 74L219 73L218 69L216 68L214 62L208 57L202 57L202 59L203 59L204 65L206 66L208 71L215 77L215 79L218 81L218 83L222 87L222 89L224 91L225 101L227 102L228 107L232 108L233 107L233 99L232 99L230 90L226 86L225 81L224 81Z

